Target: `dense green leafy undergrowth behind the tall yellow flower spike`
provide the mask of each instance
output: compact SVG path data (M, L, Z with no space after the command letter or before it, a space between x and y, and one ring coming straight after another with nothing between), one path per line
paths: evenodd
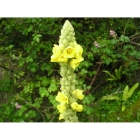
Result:
M1 122L58 122L55 96L60 67L50 63L50 56L65 20L0 19ZM84 49L84 61L76 69L77 85L85 94L79 120L140 121L140 88L123 100L126 87L140 82L140 19L68 20Z

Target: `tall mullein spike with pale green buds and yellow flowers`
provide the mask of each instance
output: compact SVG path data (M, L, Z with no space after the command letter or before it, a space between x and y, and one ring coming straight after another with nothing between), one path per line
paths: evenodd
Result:
M71 23L66 20L61 29L59 45L54 44L52 49L53 55L51 62L58 62L60 65L61 88L56 96L59 102L57 109L60 113L59 120L65 122L78 122L77 112L83 110L83 105L78 100L84 98L83 90L76 89L76 74L74 70L80 62L84 60L82 57L83 48L75 41L75 32Z

